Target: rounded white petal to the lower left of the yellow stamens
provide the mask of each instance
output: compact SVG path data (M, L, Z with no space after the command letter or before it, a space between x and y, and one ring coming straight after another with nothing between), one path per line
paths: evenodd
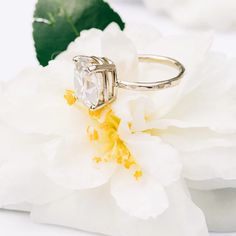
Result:
M99 153L87 139L86 135L65 136L57 145L49 144L45 149L48 155L45 171L56 184L69 189L87 189L109 181L116 166L96 164L93 158Z

